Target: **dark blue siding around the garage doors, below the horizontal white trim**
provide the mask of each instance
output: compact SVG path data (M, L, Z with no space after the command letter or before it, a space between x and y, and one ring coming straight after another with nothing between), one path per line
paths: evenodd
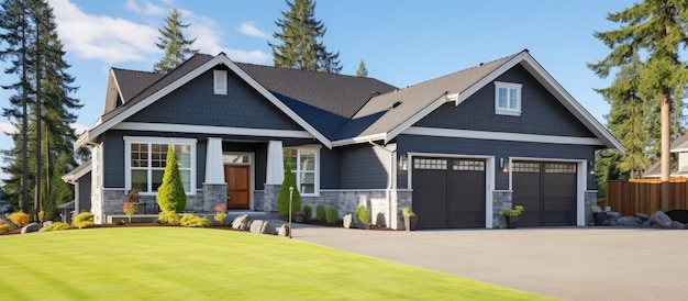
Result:
M509 175L499 169L499 158L533 157L553 159L585 159L591 161L596 147L591 145L545 144L528 142L468 140L451 137L432 137L417 135L399 135L397 137L399 154L432 153L495 156L495 186L497 190L509 189ZM399 188L408 187L407 175L399 175ZM588 189L595 189L595 176L588 176Z

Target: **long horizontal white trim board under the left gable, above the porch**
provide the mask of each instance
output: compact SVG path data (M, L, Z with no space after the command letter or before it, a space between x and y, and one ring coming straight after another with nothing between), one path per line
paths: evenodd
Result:
M307 131L228 127L228 126L210 126L210 125L192 125L192 124L122 122L115 126L112 126L112 129L113 130L129 130L129 131L146 131L146 132L155 131L155 132L241 135L241 136L259 136L259 137L314 138L313 135L311 135Z

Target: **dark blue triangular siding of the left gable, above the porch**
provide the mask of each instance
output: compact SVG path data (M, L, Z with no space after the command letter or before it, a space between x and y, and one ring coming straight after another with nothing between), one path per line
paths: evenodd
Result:
M209 70L126 121L302 130L231 71L228 81L228 94L214 94L213 75Z

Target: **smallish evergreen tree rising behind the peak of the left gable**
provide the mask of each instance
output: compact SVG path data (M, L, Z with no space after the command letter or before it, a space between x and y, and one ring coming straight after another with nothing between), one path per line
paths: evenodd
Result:
M165 51L165 57L163 57L158 63L153 65L153 70L156 73L169 73L177 66L181 65L189 55L198 53L199 49L191 49L191 45L196 42L196 37L192 40L187 40L181 32L182 29L191 25L182 24L179 21L179 16L181 16L181 12L174 8L167 18L165 18L165 27L158 30L162 36L158 36L158 43L155 45Z

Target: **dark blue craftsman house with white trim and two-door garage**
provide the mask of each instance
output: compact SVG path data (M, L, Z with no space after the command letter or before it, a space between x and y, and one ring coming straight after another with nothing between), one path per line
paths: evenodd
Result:
M403 207L419 228L500 227L512 204L519 225L582 226L595 150L622 149L528 51L403 89L222 53L166 75L112 68L84 145L90 177L70 179L90 187L97 223L131 189L155 202L171 145L187 211L276 211L286 156L304 204L364 204L393 228Z

